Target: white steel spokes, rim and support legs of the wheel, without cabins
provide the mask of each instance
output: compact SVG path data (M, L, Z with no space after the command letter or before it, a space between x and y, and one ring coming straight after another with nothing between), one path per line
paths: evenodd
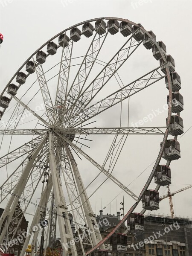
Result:
M110 60L104 62L99 58L105 55L102 50L105 47L105 43L110 39L110 33L109 28L108 31L105 30L103 33L100 31L102 22L111 19L129 23L130 26L135 26L137 29L126 38L125 42L116 50ZM83 56L78 55L74 57L76 43L74 43L74 38L69 38L67 41L68 32L70 29L77 28L83 24L93 23L94 21L99 21L100 25L99 28L96 29L93 39L90 40L89 46L86 48ZM119 72L126 66L128 59L130 60L134 56L135 52L140 49L140 45L143 43L143 39L136 40L136 35L139 31L148 35L152 44L159 50L161 58L165 62L163 65L166 67L166 75L161 73L163 65L158 65L157 67L152 67L150 71L140 75L140 77L134 79L134 81L126 81L126 83L123 83ZM57 52L61 50L59 62L54 66L52 65L51 68L49 67L47 71L44 71L44 64L35 61L35 55L40 50L44 50L48 43L52 42L60 35L64 35L64 41L63 45L59 44L56 49ZM81 37L81 35L79 35L79 37ZM76 45L78 45L78 43ZM47 54L47 59L48 57L51 58L50 55L50 53ZM57 53L57 55L59 54ZM26 83L28 87L26 87L25 90L23 89L22 94L20 94L22 84L19 84L18 96L15 96L8 92L9 84L14 81L17 73L22 71L23 67L29 61L32 61L34 64L36 80L32 85ZM102 69L100 68L101 66ZM75 76L74 73L76 74ZM72 75L73 77L71 78ZM26 81L29 76L31 76L30 73L27 74ZM130 97L140 91L147 90L146 88L149 86L158 84L165 77L168 80L169 89L167 125L154 127L129 127L129 125L127 125L126 127L122 127L122 110L126 100L128 100L129 124ZM112 85L114 81L116 81L118 87L114 86L113 90ZM50 83L57 85L55 86L56 90L54 93L54 88L49 86ZM109 84L111 85L110 92L104 98L101 92L103 92L105 87ZM49 232L45 232L45 240L49 239L49 246L54 247L57 224L64 256L77 256L76 244L73 241L74 233L71 214L73 216L77 236L80 237L81 234L87 234L87 236L84 236L84 238L79 241L83 255L88 255L97 248L104 249L104 242L126 221L131 212L133 212L140 203L144 192L151 184L168 138L172 113L172 81L166 55L163 53L160 45L143 26L133 23L130 20L114 17L87 20L55 35L34 52L20 69L17 70L0 94L0 98L5 95L5 93L11 96L9 104L12 106L12 113L9 114L9 108L3 109L3 118L6 118L6 116L8 116L8 118L7 122L3 122L0 126L0 135L2 136L1 147L4 146L6 148L6 154L0 157L0 168L6 168L8 170L6 180L3 185L0 186L0 203L7 200L5 210L0 217L0 227L3 226L3 231L0 235L0 243L3 242L6 235L13 237L17 232L17 228L24 214L27 212L27 209L29 209L32 198L36 198L39 194L40 181L43 178L40 201L29 228L29 236L26 237L20 255L24 256L30 240L32 241L31 255L38 254L36 248L38 244L40 245L39 236L41 228L36 230L34 227L38 226L42 218L47 218L49 220ZM53 97L55 97L55 101L52 100ZM35 106L37 106L39 101L43 102L44 108L37 110ZM114 106L120 106L119 126L108 128L90 127L90 124L96 122L99 115L101 116L102 113L106 113L108 109L114 109ZM179 115L180 113L177 114ZM26 121L23 122L25 119ZM30 128L30 125L26 125L27 123L33 124L32 128ZM4 129L2 129L3 125ZM22 128L20 128L20 125ZM42 128L42 126L44 126L44 128ZM82 147L87 146L83 141L86 143L90 141L88 139L90 136L94 138L94 135L98 134L101 136L113 135L114 137L103 165L97 163L96 160L82 149ZM8 137L7 135L11 135L9 136L8 147L3 145L3 142ZM14 138L18 135L27 135L30 137L30 140L28 143L13 149ZM163 136L163 143L161 144L157 160L139 196L111 174L128 135ZM175 139L177 139L177 136ZM87 187L90 186L93 181L87 187L84 186L83 178L77 167L75 154L83 156L91 166L95 166L99 169L99 174L102 173L106 176L106 180L110 179L136 201L119 224L117 224L104 239L102 239L99 230L96 229L96 218L90 204L91 195L87 195ZM10 173L9 170L12 169L12 163L17 167ZM109 167L107 167L108 165ZM168 161L166 165L169 166L170 161ZM159 189L160 186L158 185L155 190L158 191ZM8 230L6 230L6 226L9 226L12 221L18 201L21 201L22 209L20 221L17 227L15 227L15 230L9 234ZM144 212L145 210L142 211L142 213Z

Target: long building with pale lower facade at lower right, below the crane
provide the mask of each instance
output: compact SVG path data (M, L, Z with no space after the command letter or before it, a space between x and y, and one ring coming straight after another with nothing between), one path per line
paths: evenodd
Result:
M138 242L146 241L145 256L192 256L191 219L148 215L145 232L136 237Z

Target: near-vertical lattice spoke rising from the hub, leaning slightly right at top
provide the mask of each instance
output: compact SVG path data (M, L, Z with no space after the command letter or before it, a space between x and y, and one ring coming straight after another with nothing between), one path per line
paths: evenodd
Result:
M65 34L66 36L66 34ZM65 38L64 38L65 41ZM62 54L61 54L61 63L58 73L58 84L57 84L57 91L55 97L55 106L54 106L54 115L55 112L57 113L55 122L60 116L63 115L65 111L65 102L67 99L67 88L70 76L70 67L71 67L71 60L72 60L72 52L73 52L73 41L69 43L67 47L62 47Z

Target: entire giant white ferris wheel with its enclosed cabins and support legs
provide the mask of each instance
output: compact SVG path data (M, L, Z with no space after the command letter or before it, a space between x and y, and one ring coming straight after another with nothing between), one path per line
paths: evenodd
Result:
M142 54L148 56L146 66ZM150 90L156 84L157 87L163 84L169 91L168 96L162 95L164 99L167 97L167 119L162 125L131 127L131 96ZM76 244L70 243L74 233L71 216L78 235L87 229L93 231L80 241L82 253L87 255L97 248L105 249L104 242L122 223L130 220L130 216L136 214L142 218L146 210L159 209L158 190L171 183L170 162L180 158L177 141L177 136L183 133L180 88L175 61L167 55L165 44L157 42L155 34L146 31L140 23L115 17L87 20L65 29L42 45L17 70L0 94L3 180L0 204L5 205L0 217L0 227L4 227L0 243L6 237L6 227L14 223L14 216L19 216L21 221L26 212L33 212L35 208L30 235L20 255L24 255L29 241L32 241L31 255L37 253L35 244L39 243L40 230L34 227L48 219L49 245L54 243L57 223L64 255L76 256ZM108 146L105 140L110 135L113 141ZM140 141L145 136L159 135L160 138L160 151L140 195L128 189L115 174L128 135L140 135ZM91 138L97 145L101 136L106 146L100 144L97 150L99 155L105 154L103 164L94 158L96 148L92 154L93 145L90 144ZM90 203L94 192L102 191L105 180L88 195L87 188L99 175L85 186L87 177L84 177L85 172L80 175L77 165L81 157L87 161L85 165L88 163L99 169L99 175L105 175L105 180L111 180L135 202L105 239L95 228L96 216ZM162 157L167 160L164 165L160 165ZM153 178L157 184L155 189L151 184ZM40 198L38 206L36 198ZM134 213L140 201L143 211ZM18 202L22 209L19 212ZM14 236L17 227L8 236ZM64 246L67 243L69 248Z

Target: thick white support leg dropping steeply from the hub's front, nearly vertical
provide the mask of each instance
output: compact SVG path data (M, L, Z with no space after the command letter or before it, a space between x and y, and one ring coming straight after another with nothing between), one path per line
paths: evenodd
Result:
M55 195L55 205L57 210L57 219L61 236L63 255L69 255L68 248L70 247L72 256L77 256L75 242L73 241L73 232L71 229L69 215L67 212L67 205L63 194L61 177L59 174L56 157L54 154L54 142L53 135L51 132L49 133L49 163L51 167L53 191Z

